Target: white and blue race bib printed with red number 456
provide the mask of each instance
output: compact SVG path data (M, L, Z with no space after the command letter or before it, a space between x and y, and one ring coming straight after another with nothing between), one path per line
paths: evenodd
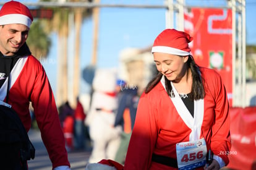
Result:
M179 169L195 169L206 164L207 146L205 139L176 144Z

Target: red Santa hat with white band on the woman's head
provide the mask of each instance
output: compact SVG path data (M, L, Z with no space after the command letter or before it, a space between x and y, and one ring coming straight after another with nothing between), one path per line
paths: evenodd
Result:
M193 38L186 32L166 29L156 37L151 52L188 56L190 55L189 43L192 40Z

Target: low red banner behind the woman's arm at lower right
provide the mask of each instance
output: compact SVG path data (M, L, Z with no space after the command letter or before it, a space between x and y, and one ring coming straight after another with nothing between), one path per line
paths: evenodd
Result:
M256 169L256 107L231 108L228 168Z

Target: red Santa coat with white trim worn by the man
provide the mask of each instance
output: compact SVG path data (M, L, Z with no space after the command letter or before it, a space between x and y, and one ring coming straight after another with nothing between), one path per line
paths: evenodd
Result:
M6 90L7 81L4 82L0 90L1 100L5 98ZM35 57L20 57L11 72L8 103L19 114L27 132L31 126L28 109L30 101L32 101L41 137L53 163L53 168L63 165L70 166L58 110L46 72Z

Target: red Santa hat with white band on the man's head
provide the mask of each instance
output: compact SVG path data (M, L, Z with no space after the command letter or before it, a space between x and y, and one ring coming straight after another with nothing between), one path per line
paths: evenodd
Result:
M0 25L21 23L29 28L32 21L33 17L28 7L20 2L6 2L0 10Z

